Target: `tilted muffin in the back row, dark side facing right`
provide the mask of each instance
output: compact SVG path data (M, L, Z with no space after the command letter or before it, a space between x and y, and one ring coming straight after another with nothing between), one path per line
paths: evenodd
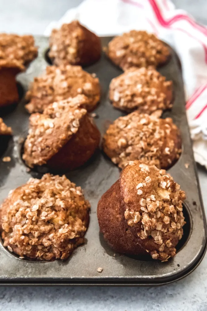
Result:
M90 65L101 57L101 40L78 21L72 21L52 30L49 57L57 66Z

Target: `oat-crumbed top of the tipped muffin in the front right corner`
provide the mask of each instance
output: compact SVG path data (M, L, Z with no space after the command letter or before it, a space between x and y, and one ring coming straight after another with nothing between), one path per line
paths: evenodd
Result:
M182 213L185 192L164 169L139 161L131 161L124 168L120 188L128 225L143 243L151 237L145 249L153 259L173 257L185 224ZM147 248L152 243L157 245L157 250Z

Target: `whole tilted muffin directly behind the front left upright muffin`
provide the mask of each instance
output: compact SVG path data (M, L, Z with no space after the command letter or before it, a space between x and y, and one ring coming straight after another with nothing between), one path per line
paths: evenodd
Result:
M93 155L101 135L87 110L81 108L87 104L88 98L78 95L50 104L43 114L30 116L23 154L29 167L71 170Z

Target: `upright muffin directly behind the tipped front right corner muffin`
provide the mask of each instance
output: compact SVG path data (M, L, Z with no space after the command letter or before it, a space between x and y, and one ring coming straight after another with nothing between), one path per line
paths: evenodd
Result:
M167 169L181 154L181 136L171 118L134 111L116 119L103 137L103 150L112 162L124 168L140 160Z

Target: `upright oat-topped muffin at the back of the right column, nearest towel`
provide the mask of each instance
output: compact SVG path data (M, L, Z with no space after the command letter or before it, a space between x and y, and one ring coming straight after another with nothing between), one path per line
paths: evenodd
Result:
M157 67L169 60L168 47L155 35L131 30L109 42L108 57L124 71L131 67Z

